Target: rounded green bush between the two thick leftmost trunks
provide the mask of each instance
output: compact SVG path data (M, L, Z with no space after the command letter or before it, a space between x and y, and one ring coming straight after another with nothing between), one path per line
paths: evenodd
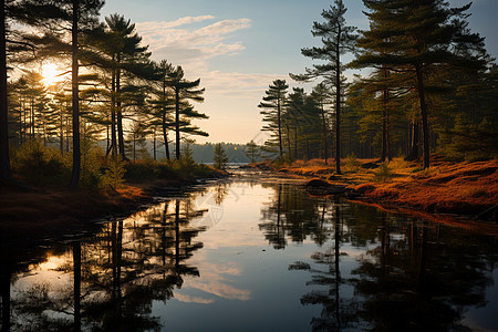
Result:
M37 185L61 183L62 177L69 174L60 152L45 147L38 139L24 143L13 153L12 170L24 180Z

